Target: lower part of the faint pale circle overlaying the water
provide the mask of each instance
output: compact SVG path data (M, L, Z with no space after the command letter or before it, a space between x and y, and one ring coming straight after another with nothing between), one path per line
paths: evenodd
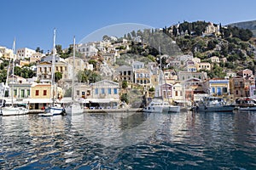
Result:
M87 139L105 146L127 146L145 141L165 121L161 114L119 113L72 116L72 127Z

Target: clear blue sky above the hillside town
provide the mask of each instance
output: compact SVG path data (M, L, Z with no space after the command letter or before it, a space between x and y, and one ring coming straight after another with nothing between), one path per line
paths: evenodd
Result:
M74 36L76 42L99 32L115 36L126 31L127 23L162 28L184 20L222 26L256 20L253 0L1 0L0 6L0 46L12 48L15 39L16 48L39 47L44 52L53 47L54 29L56 44L68 48ZM124 27L108 32L115 26Z

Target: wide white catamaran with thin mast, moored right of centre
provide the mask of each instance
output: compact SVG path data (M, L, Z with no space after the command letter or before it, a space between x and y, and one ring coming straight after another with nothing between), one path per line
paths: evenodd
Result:
M160 51L160 48L159 48ZM161 59L160 59L160 82L161 85L162 79L164 77L163 71L162 71L162 64L161 64ZM165 86L166 86L166 78L165 79ZM168 98L168 101L165 101L164 99L152 99L152 101L143 108L144 112L154 112L154 113L179 113L180 112L180 106L179 105L170 105L169 102L169 96L167 94L166 90L166 96Z

